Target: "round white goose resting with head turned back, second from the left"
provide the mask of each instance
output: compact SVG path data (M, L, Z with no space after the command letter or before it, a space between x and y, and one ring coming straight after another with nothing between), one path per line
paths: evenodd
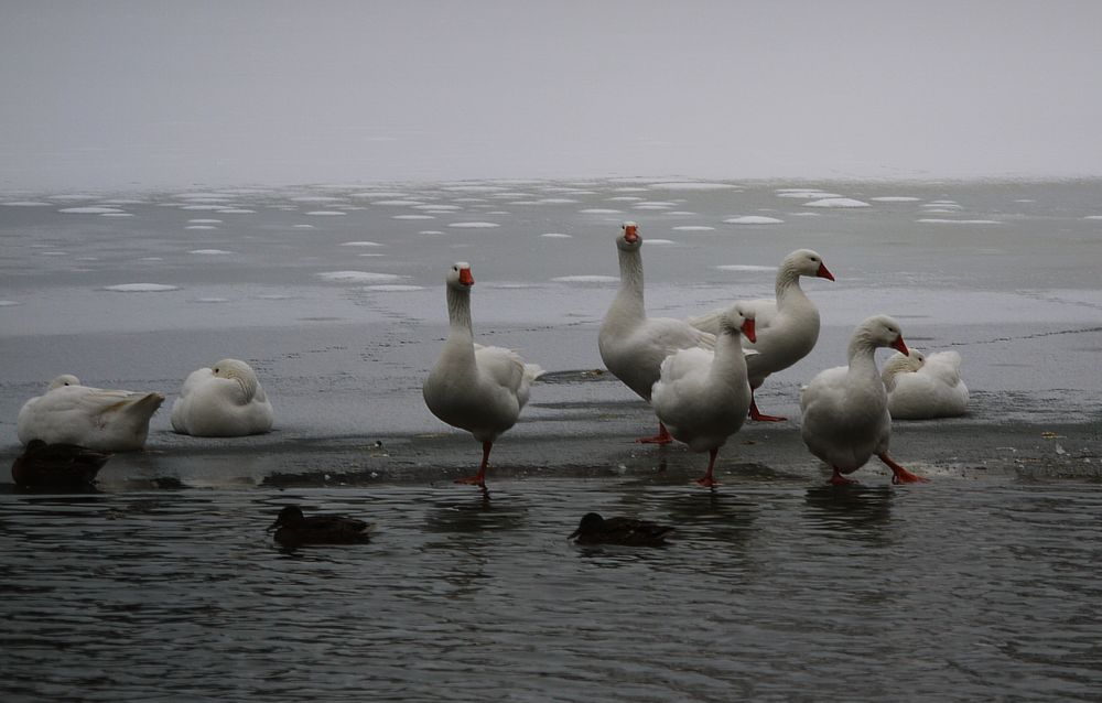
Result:
M172 403L172 429L197 437L263 434L273 417L257 372L240 359L192 371Z

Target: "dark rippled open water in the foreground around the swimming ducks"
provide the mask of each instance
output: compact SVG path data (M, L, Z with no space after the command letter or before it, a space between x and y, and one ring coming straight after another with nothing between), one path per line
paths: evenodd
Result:
M0 493L4 700L1085 700L1098 486ZM379 523L281 550L289 502ZM583 512L674 524L580 548ZM861 685L854 685L860 681Z

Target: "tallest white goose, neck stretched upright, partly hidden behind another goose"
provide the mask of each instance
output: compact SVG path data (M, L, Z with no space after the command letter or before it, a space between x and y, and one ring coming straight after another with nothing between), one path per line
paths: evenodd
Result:
M616 237L619 292L605 313L597 347L605 368L649 402L662 360L678 349L714 348L715 335L696 329L682 320L647 317L642 294L642 238L635 223L624 223L622 230ZM672 441L661 420L656 436L639 440L657 444Z

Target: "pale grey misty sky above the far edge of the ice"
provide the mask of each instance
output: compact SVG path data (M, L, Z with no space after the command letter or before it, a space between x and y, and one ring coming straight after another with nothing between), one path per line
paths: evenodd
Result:
M1102 2L0 0L0 190L1102 175Z

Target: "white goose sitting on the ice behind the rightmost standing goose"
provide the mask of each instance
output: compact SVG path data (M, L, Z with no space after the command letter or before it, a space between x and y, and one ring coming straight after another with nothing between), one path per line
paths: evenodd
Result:
M968 386L961 380L961 355L955 352L895 354L884 363L880 378L895 420L954 418L968 412Z

